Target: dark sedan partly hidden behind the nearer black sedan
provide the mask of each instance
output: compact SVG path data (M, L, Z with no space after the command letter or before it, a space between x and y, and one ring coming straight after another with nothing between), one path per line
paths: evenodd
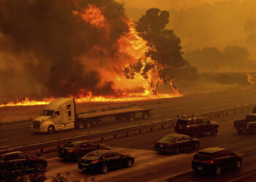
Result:
M110 146L91 141L72 141L59 148L58 156L63 159L75 159L79 162L85 154L98 149L110 150Z

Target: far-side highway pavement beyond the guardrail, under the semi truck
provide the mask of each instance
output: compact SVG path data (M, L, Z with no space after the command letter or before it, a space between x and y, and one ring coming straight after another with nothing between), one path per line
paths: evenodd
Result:
M58 132L53 135L31 133L31 122L1 125L0 149L156 122L161 119L174 118L181 114L198 114L206 111L216 111L223 108L256 103L255 88L255 85L251 85L249 87L236 88L234 90L226 90L222 92L185 95L181 98L141 101L137 102L136 105L140 107L145 106L153 108L153 111L151 111L151 119L135 120L134 122L116 122L115 119L110 118L99 122L97 126L90 129L69 130ZM15 109L13 111L15 112Z

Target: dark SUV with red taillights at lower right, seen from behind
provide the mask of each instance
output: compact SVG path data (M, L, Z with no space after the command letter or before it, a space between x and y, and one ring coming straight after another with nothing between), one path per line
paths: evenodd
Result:
M241 156L227 149L210 147L198 151L192 160L192 169L195 173L205 172L219 175L222 170L241 167Z

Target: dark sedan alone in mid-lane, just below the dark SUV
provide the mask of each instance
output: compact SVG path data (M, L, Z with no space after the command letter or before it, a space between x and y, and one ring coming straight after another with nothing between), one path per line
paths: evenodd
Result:
M199 145L199 140L189 135L169 134L157 141L154 149L159 152L174 151L178 154L180 151L198 149Z

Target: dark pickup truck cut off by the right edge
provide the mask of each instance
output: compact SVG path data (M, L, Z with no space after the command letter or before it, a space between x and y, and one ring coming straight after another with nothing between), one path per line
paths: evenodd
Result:
M238 134L242 132L256 132L256 114L247 114L245 119L240 119L234 122Z

